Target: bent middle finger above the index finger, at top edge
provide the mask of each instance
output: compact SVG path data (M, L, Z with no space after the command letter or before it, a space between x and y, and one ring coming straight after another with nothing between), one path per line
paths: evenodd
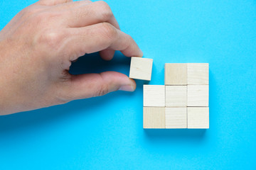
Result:
M119 29L119 24L105 1L96 1L69 10L67 24L70 27L84 27L107 22Z

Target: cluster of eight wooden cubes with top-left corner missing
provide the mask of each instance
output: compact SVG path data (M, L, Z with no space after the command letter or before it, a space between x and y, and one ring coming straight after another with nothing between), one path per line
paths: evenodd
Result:
M144 85L143 127L209 128L208 63L166 63L164 73L164 86Z

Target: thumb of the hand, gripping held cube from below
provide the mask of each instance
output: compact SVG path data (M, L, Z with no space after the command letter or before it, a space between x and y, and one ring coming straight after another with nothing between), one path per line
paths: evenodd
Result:
M100 74L72 75L70 86L65 88L68 101L81 98L103 96L112 91L134 91L136 83L119 72L102 72Z

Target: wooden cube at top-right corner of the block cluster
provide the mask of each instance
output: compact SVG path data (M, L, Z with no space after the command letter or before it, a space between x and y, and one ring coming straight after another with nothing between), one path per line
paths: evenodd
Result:
M188 84L209 84L209 64L188 63Z

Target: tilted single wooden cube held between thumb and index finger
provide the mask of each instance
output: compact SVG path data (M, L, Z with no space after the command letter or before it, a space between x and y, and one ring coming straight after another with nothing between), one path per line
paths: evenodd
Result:
M153 59L132 57L129 78L151 80Z

